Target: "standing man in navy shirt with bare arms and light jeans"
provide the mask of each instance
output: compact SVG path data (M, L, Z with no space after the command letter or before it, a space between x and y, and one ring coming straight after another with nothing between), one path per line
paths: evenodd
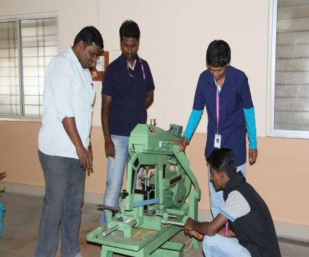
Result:
M108 158L103 204L119 206L125 164L129 158L129 134L138 123L147 122L147 108L153 103L153 78L148 63L137 52L140 29L125 21L120 29L121 56L106 69L102 82L101 121ZM101 224L106 223L103 211Z

